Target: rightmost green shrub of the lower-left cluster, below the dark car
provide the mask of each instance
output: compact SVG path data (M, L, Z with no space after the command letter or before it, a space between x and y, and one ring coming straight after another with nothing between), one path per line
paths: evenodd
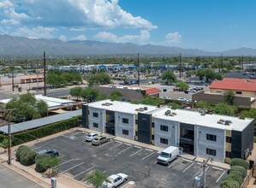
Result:
M56 167L60 162L60 157L49 156L47 154L42 154L36 156L35 159L36 168L35 170L39 173L44 173L47 169L51 167Z

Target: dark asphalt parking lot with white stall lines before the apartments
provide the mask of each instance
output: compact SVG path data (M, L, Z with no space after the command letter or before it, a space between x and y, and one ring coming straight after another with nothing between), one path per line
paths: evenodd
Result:
M195 176L203 178L201 163L179 157L169 166L157 163L158 151L111 139L93 146L85 142L86 132L74 131L33 145L35 151L46 148L59 150L62 162L56 167L60 173L82 181L87 173L100 169L107 175L127 173L136 187L192 187ZM225 169L207 165L206 180L211 188L219 187Z

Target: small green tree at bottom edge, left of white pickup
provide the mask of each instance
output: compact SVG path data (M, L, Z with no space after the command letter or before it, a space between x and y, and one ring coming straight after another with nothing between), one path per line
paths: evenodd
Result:
M95 170L92 173L86 175L85 180L90 182L95 187L102 185L104 180L107 179L107 175L100 170Z

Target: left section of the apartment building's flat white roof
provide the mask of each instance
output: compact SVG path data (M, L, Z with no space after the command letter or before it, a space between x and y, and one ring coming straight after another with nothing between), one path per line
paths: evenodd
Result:
M112 103L112 105L103 105L105 103ZM116 111L116 112L123 112L123 113L129 113L129 114L138 114L138 112L141 113L149 113L152 110L158 109L155 106L151 105L146 105L146 104L133 104L133 103L128 103L128 102L120 102L120 101L111 101L110 99L106 99L103 101L98 101L94 103L88 103L89 107L92 108L97 108L97 109L108 109L111 111ZM147 109L145 110L144 107ZM142 109L143 111L139 111L138 109Z

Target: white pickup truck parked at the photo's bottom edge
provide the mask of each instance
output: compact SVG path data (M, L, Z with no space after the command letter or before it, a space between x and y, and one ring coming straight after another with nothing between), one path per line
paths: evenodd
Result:
M128 175L125 173L117 173L110 175L107 180L103 182L100 186L101 188L115 188L118 185L121 185L123 182L127 181Z

